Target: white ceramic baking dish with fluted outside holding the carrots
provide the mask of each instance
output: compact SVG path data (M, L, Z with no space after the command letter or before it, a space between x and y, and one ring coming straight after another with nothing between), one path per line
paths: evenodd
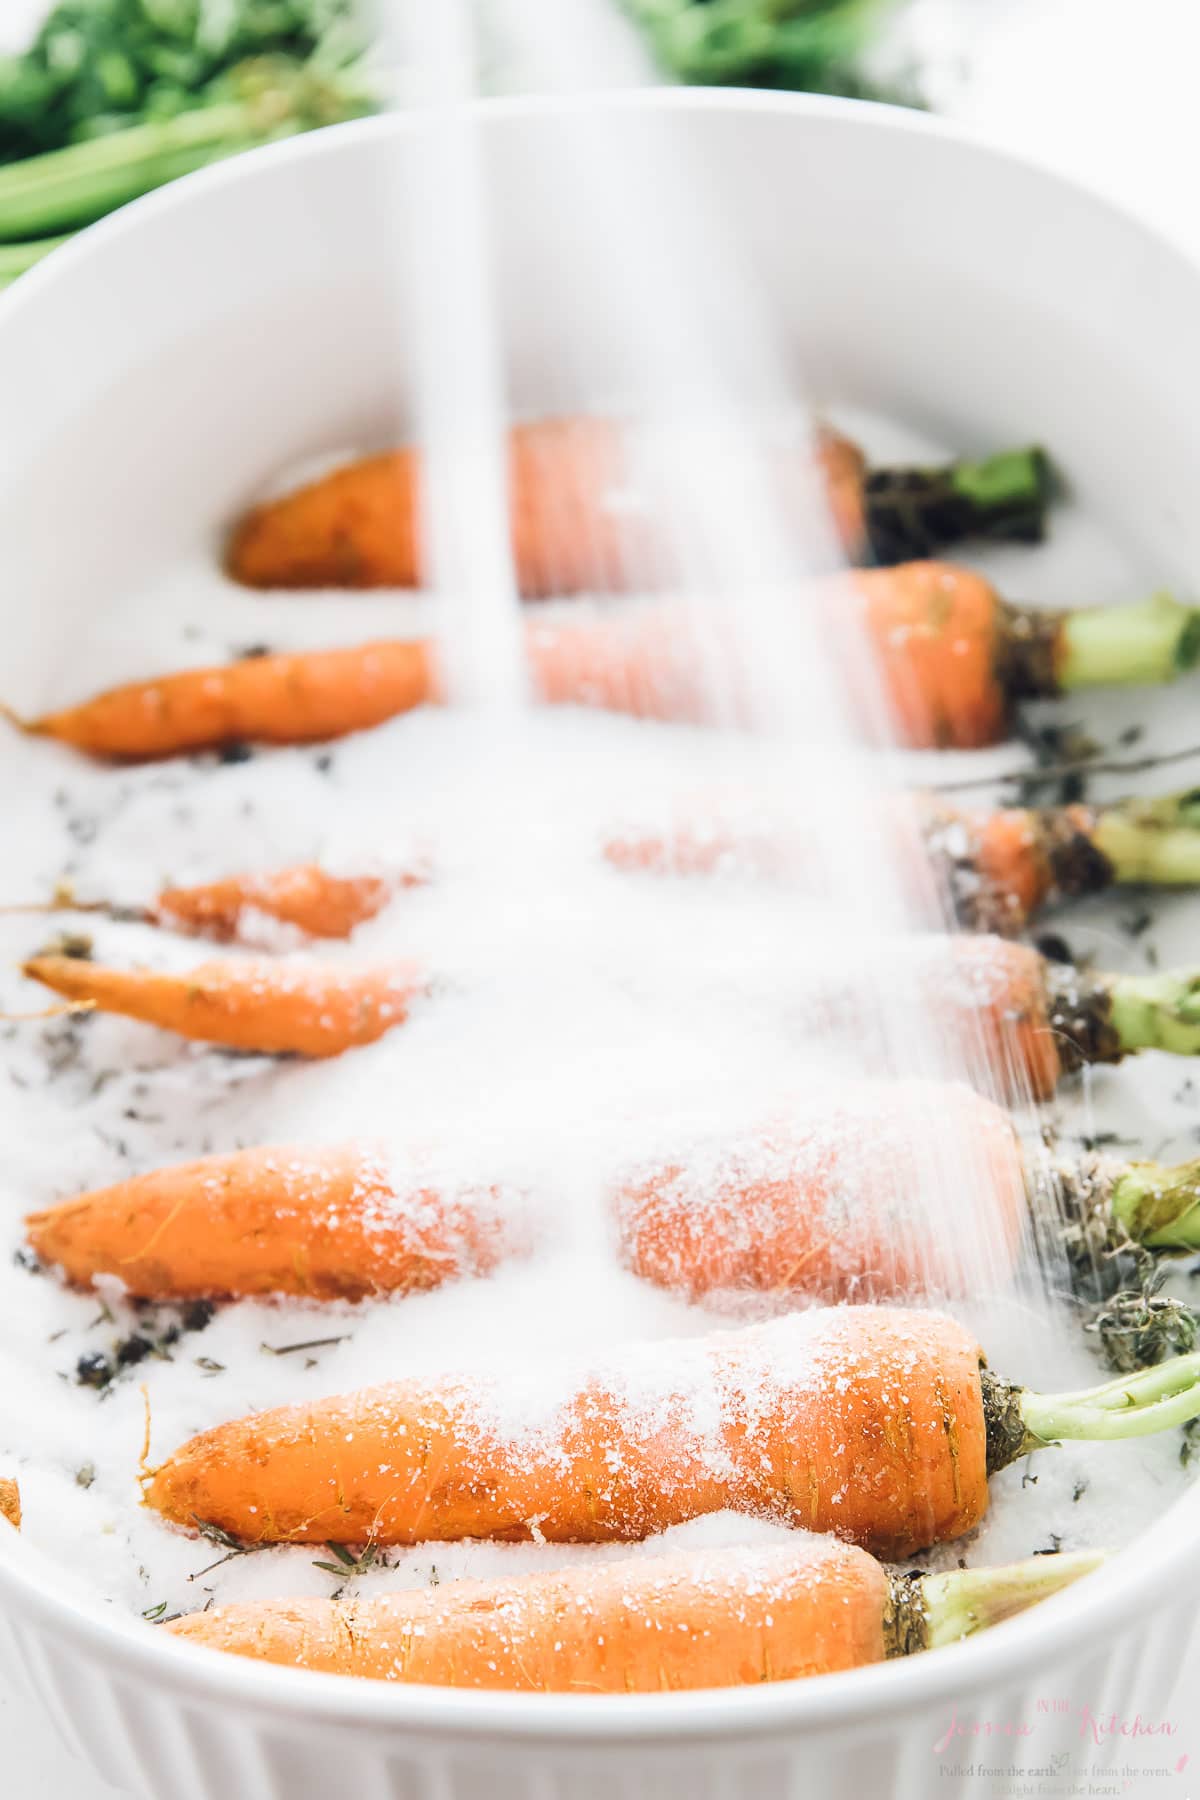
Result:
M1146 562L1200 565L1200 272L1099 200L901 112L673 94L597 103L637 140L671 106L732 202L797 364L964 448L1042 436ZM488 112L522 409L561 369L554 247L520 196L554 110ZM412 167L401 121L194 176L86 234L0 304L4 691L59 697L83 608L216 531L297 455L385 437ZM986 1793L957 1712L1036 1760L1078 1703L1164 1717L1193 1629L1200 1492L1081 1588L986 1638L808 1685L630 1699L392 1690L223 1661L79 1604L0 1532L0 1661L122 1791L153 1800L822 1800ZM1184 1575L1184 1571L1187 1571ZM1074 1708L1060 1715L1056 1701ZM1004 1762L1018 1737L993 1739ZM1024 1751L1025 1760L1029 1753Z

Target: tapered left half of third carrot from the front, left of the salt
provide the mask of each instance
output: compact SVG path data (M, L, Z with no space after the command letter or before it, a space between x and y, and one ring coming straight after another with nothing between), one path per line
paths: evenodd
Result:
M209 1156L31 1213L29 1242L81 1285L191 1300L362 1300L486 1274L524 1246L498 1186L401 1175L374 1148Z

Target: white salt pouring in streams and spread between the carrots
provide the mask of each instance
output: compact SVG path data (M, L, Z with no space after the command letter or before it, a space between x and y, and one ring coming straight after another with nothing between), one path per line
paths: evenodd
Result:
M570 18L574 7L533 11L545 13L536 22L542 45L579 41L570 36L583 23L579 13ZM533 20L525 13L507 23L520 36L518 27ZM615 536L655 603L666 596L673 621L691 637L705 713L716 724L622 722L525 706L525 625L507 549L500 450L507 425L502 331L486 304L493 281L489 248L480 243L486 171L473 115L462 106L470 34L457 7L435 9L435 18L412 9L410 25L425 34L428 54L419 65L441 95L426 101L425 187L416 200L398 196L398 218L423 234L414 256L416 333L403 346L398 333L398 349L414 380L416 437L426 448L430 610L452 704L444 715L417 715L347 740L329 767L322 754L261 756L225 770L219 794L203 767L135 770L119 785L112 772L72 767L70 817L95 815L79 875L99 886L112 871L112 891L128 891L131 873L149 878L167 846L194 859L198 875L212 875L246 860L234 855L241 844L250 857L277 850L273 860L286 860L293 846L311 851L317 841L327 866L353 868L367 853L387 862L414 841L432 839L437 878L360 927L353 954L417 952L437 970L437 990L403 1030L320 1066L180 1055L108 1019L50 1026L36 1046L14 1039L13 1067L23 1078L29 1067L54 1076L52 1091L43 1076L45 1091L31 1100L31 1120L52 1121L49 1148L38 1156L29 1141L20 1145L16 1174L29 1199L115 1179L126 1157L153 1168L239 1143L313 1147L363 1138L381 1141L398 1206L428 1204L423 1195L439 1183L498 1183L529 1213L531 1249L482 1282L452 1282L392 1303L243 1301L205 1318L203 1337L185 1330L175 1339L176 1323L133 1312L117 1282L103 1287L108 1318L94 1325L94 1298L67 1294L27 1269L7 1273L14 1330L20 1321L22 1337L32 1341L40 1332L65 1334L56 1341L63 1366L77 1346L122 1334L117 1359L139 1361L148 1375L155 1458L201 1426L257 1408L443 1370L468 1382L477 1377L493 1429L536 1438L547 1409L570 1391L581 1359L619 1357L637 1343L662 1343L639 1366L669 1375L675 1357L687 1391L694 1357L678 1341L711 1330L712 1312L637 1282L621 1265L608 1206L613 1168L691 1141L694 1168L703 1170L723 1138L786 1114L797 1094L817 1114L828 1094L833 1112L864 1060L885 1080L903 1075L932 1084L952 1071L984 1093L1000 1087L982 1042L945 1040L905 950L907 940L941 923L939 900L932 880L914 900L910 866L900 868L882 824L901 769L855 617L810 598L808 578L835 560L815 484L793 488L783 504L774 482L781 437L810 430L779 400L795 392L795 371L779 320L765 315L745 272L712 248L723 241L720 220L700 205L702 182L669 115L646 115L628 146L613 144L612 128L587 106L561 115L561 160L540 171L531 214L563 247L556 313L590 319L592 335L565 333L570 360L551 369L543 387L570 396L576 410L583 394L590 410L624 421L633 479L612 497ZM563 65L558 59L547 85L567 85ZM637 283L628 270L639 272ZM464 520L473 524L470 533ZM648 520L653 556L644 549ZM569 545L578 558L574 531L570 509L563 554ZM230 617L234 599L210 571L189 571L173 585L175 605L157 626L164 666L182 661L182 630L205 617L218 592ZM245 608L241 617L252 619L254 601ZM45 747L18 751L31 752L31 770L34 751ZM52 779L63 769L54 763ZM40 781L45 792L47 776ZM669 819L680 796L730 785L766 794L802 819L822 871L817 891L756 895L738 882L703 889L621 880L597 857L596 846L622 815L646 819L658 808ZM252 824L239 821L245 805L261 808ZM173 817L178 806L191 815ZM322 819L317 833L315 814ZM259 835L263 819L270 819L270 844ZM50 868L61 873L52 815L29 839L29 869ZM113 958L189 963L187 945L135 923L99 922L95 936ZM864 947L878 952L891 943L896 954L885 961L885 977L847 983L838 1031L829 1035L820 1013L817 1037L804 999L813 979L829 968L860 968ZM284 936L279 950L290 949ZM725 968L732 979L721 979ZM1000 1073L1007 1087L1013 1071ZM903 1282L889 1269L869 1271L871 1278L887 1287L889 1274L896 1276L914 1303L948 1303L979 1332L997 1366L1029 1372L1033 1386L1094 1379L1094 1366L1078 1355L1074 1321L1049 1298L1027 1244L1022 1273L1011 1278L1013 1246L997 1242L986 1204L981 1136L937 1102L936 1087L907 1093L919 1123L910 1134L912 1163L903 1179L882 1183L883 1211L905 1242ZM63 1102L74 1105L70 1129ZM119 1120L128 1130L121 1148L112 1141ZM862 1123L840 1129L851 1134L840 1147L844 1159L862 1161ZM1024 1143L1031 1166L1043 1161L1033 1112ZM777 1143L768 1139L763 1156L770 1181ZM687 1204L687 1172L682 1188ZM837 1206L837 1192L831 1201ZM1016 1231L1027 1235L1024 1211ZM957 1246L952 1282L946 1244ZM952 1292L946 1301L946 1285L959 1298ZM130 1352L137 1343L146 1348ZM270 1345L270 1354L259 1345ZM9 1345L5 1354L18 1348ZM79 1348L81 1357L106 1354ZM158 1361L160 1354L171 1359ZM20 1366L27 1364L22 1350ZM383 1591L423 1586L434 1568L441 1580L509 1575L601 1553L639 1559L680 1544L720 1552L783 1537L783 1526L766 1519L718 1512L646 1546L597 1552L543 1543L545 1521L531 1517L524 1544L376 1548L347 1561L315 1559L302 1546L248 1555L218 1532L219 1550L209 1555L209 1544L169 1534L137 1510L137 1390L121 1375L101 1386L103 1409L86 1388L47 1386L45 1372L27 1381L13 1420L27 1530L70 1566L86 1568L101 1591L126 1604L144 1600L139 1609L157 1616L193 1609L210 1595L322 1595L345 1580L358 1591ZM1076 1534L1070 1544L1108 1543L1114 1530L1124 1535L1177 1451L1153 1445L1108 1454L1117 1460L1101 1462L1087 1445L1054 1453L1056 1467L1038 1476L1034 1494L1004 1492L995 1501L972 1543L972 1561L1027 1553L1051 1521L1063 1537L1063 1516ZM1090 1490L1087 1508L1070 1498L1081 1483ZM934 1553L934 1562L945 1557L954 1561L954 1546ZM218 1566L209 1570L209 1562Z

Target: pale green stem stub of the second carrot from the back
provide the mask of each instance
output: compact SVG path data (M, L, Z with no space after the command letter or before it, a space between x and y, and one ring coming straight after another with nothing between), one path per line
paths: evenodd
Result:
M1056 686L1144 688L1173 680L1200 661L1200 608L1171 594L1128 607L1060 614Z

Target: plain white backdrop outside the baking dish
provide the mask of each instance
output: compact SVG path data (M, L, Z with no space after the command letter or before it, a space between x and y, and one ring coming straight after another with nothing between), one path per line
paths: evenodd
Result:
M41 11L0 0L0 40L20 43ZM916 0L907 29L943 110L1106 189L1200 256L1200 0ZM1200 1660L1182 1690L1198 1678ZM124 1800L4 1687L0 1744L5 1800Z

